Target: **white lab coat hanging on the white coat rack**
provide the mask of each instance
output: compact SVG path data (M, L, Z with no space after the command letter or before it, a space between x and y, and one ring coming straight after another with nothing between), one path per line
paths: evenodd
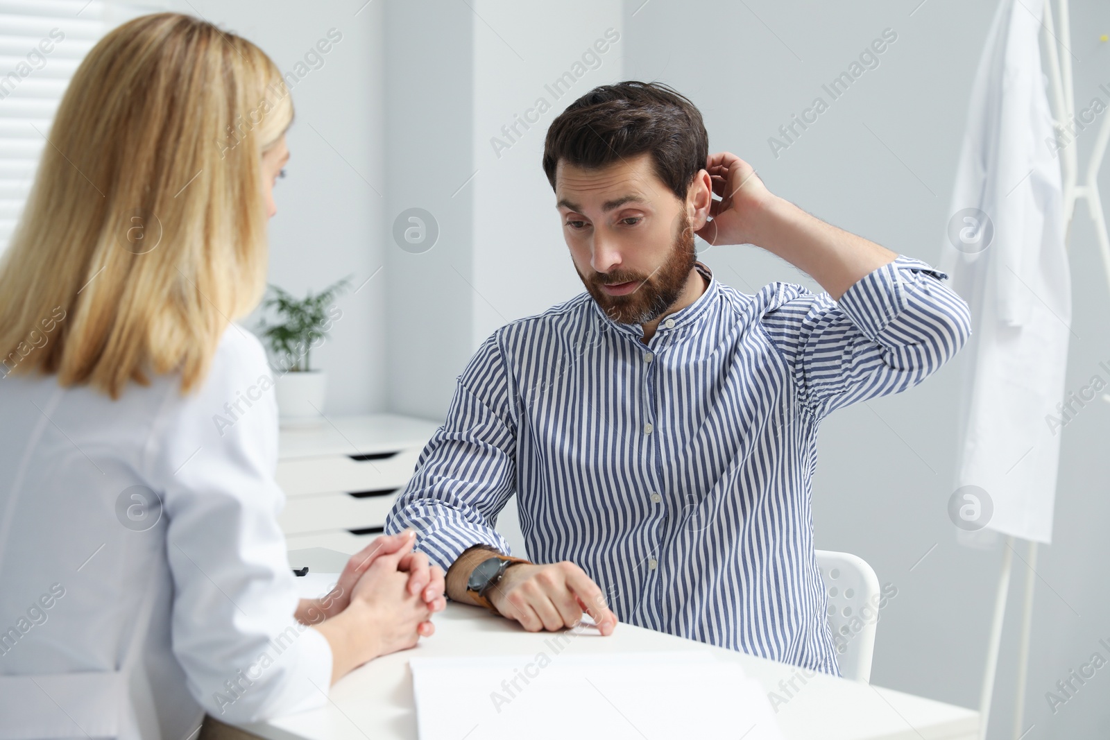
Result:
M1063 397L1071 282L1038 45L1043 4L1023 4L1001 0L995 13L949 211L987 213L993 241L968 253L946 240L939 266L973 321L955 488L979 486L990 497L993 514L980 539L993 531L1049 543L1060 455L1050 418Z

